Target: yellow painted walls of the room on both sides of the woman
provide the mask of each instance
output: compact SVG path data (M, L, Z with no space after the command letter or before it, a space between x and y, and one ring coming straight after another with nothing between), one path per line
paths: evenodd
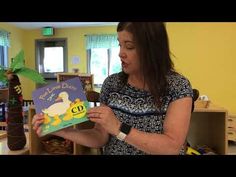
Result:
M10 57L23 48L27 67L35 67L35 39L43 39L40 30L20 30L4 23L0 28L11 32ZM85 34L115 33L115 26L56 29L55 38L67 38L68 69L78 67L86 72ZM217 105L236 113L236 23L167 23L169 41L177 71L189 78L193 88L206 94ZM80 64L72 66L71 58L79 56ZM23 95L31 98L35 84L21 79ZM26 86L27 84L27 86Z

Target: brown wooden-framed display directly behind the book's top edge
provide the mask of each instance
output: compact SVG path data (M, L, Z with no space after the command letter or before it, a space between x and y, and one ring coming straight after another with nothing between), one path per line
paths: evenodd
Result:
M72 79L74 77L79 77L80 78L84 91L94 90L93 74L87 74L87 73L58 73L57 74L57 82Z

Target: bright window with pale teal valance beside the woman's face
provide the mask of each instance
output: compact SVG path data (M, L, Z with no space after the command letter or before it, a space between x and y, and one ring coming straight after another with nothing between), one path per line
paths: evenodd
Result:
M101 87L105 78L121 71L116 35L87 37L88 72L94 75L94 86Z

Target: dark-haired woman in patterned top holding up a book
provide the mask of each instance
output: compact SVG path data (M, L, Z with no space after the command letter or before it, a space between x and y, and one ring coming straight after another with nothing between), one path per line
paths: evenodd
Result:
M104 154L184 154L193 92L174 71L165 25L121 22L117 32L122 72L106 78L101 106L88 110L95 127L54 134ZM37 133L42 122L34 116Z

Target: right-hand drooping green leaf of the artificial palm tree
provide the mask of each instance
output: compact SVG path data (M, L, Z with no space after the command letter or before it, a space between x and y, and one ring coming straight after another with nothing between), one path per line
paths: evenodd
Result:
M16 71L16 74L22 75L28 79L31 79L32 81L39 83L39 84L45 84L44 78L35 70L23 67Z

